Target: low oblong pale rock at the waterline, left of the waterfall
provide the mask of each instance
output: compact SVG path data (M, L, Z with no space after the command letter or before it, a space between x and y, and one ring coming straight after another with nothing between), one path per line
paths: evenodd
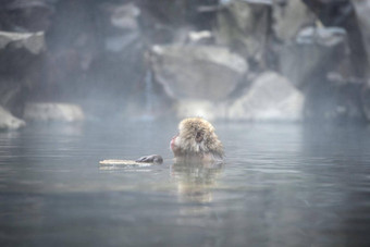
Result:
M24 119L28 121L79 122L85 119L81 107L70 103L27 103Z

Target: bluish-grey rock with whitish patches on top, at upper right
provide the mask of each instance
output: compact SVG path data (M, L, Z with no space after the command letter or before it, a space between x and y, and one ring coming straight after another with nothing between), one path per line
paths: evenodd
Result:
M281 73L301 88L312 76L335 71L346 60L346 32L338 27L307 27L295 44L287 44L280 54ZM340 61L340 62L338 62Z

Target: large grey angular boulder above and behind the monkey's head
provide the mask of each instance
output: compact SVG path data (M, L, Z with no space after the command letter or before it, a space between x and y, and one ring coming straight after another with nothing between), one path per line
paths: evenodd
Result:
M214 46L155 46L150 65L175 99L224 99L248 70L243 58Z

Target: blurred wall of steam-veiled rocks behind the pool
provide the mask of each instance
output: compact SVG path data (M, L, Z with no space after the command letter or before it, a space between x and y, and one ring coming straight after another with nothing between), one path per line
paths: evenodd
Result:
M370 121L363 0L2 0L0 128Z

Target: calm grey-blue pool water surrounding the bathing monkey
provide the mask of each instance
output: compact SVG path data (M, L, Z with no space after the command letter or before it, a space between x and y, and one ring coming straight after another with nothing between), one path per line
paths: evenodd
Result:
M0 246L369 246L369 128L215 126L224 165L173 163L176 123L0 133Z

